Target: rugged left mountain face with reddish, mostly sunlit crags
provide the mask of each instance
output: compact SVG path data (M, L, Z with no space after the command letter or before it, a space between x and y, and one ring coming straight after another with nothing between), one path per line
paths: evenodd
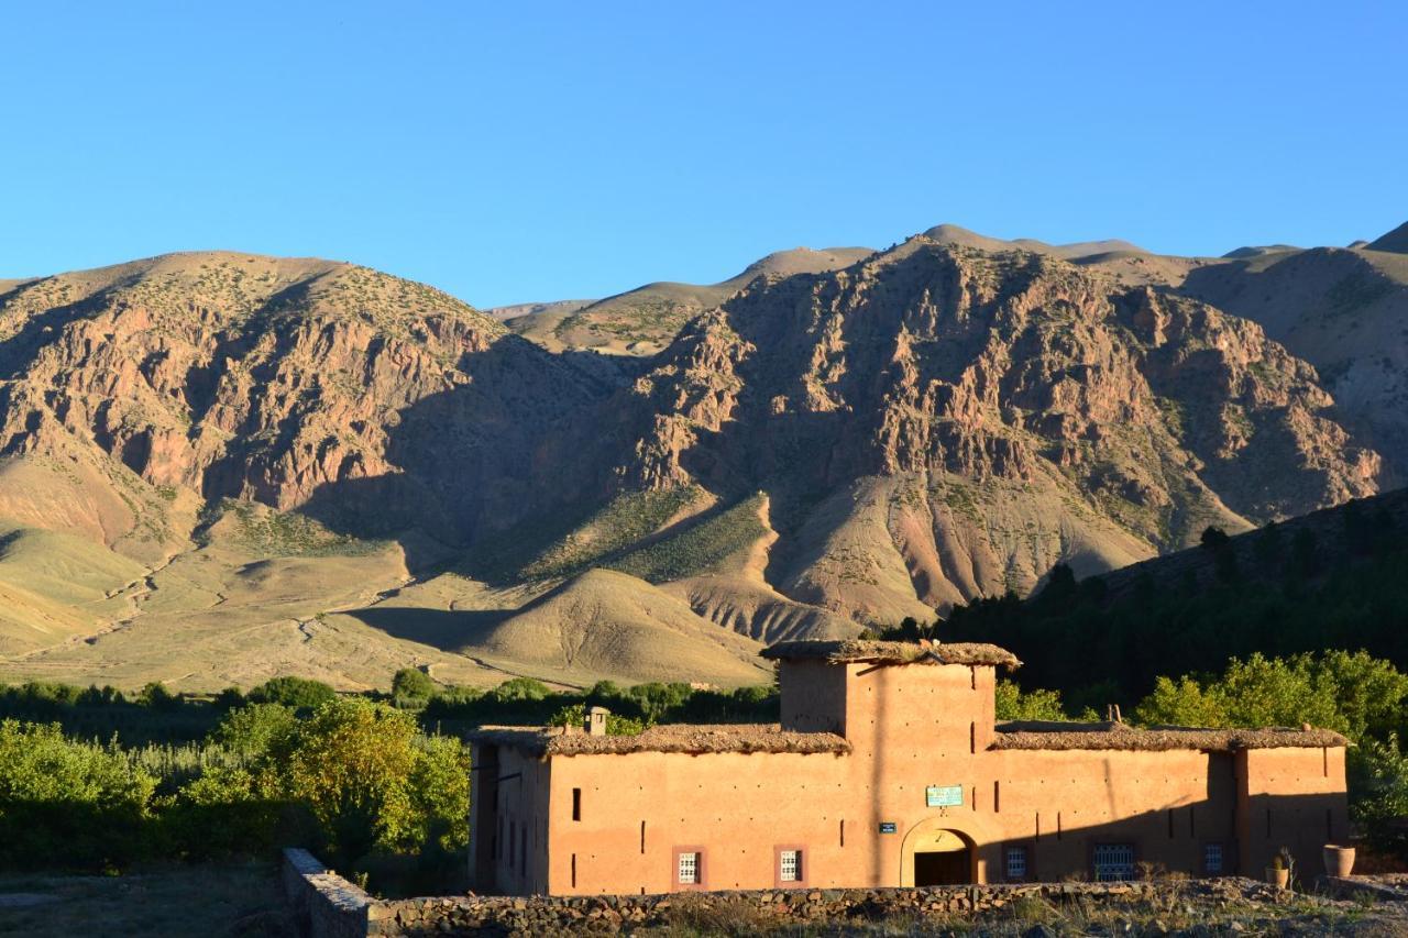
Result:
M608 379L352 265L172 255L0 296L0 455L458 539ZM121 469L111 469L121 473ZM521 504L522 492L517 492Z

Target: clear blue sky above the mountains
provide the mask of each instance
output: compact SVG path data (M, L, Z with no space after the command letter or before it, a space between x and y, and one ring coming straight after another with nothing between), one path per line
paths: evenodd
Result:
M355 261L477 306L950 221L1408 221L1402 3L6 3L0 277Z

